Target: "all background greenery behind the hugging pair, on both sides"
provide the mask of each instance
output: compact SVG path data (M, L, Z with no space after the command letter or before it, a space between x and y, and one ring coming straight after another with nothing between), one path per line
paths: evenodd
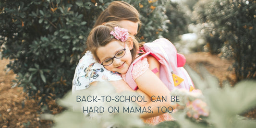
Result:
M70 91L86 37L111 1L0 0L0 55L12 59L13 87L46 109ZM256 0L123 1L141 14L141 41L165 37L183 54L234 59L236 82L256 79Z

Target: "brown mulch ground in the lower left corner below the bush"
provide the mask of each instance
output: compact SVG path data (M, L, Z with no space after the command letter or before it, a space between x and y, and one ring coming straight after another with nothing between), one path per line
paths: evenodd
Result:
M22 87L12 88L15 74L4 70L9 61L0 59L0 128L50 128L52 121L40 120L41 108L36 101L26 99Z

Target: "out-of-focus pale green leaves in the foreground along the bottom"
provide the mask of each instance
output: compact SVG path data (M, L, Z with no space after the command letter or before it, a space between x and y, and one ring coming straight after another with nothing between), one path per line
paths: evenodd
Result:
M122 92L116 93L114 87L108 82L101 82L97 86L76 93L67 93L64 98L59 101L59 104L67 109L56 116L49 114L43 115L45 119L52 119L55 122L54 128L74 127L74 128L106 128L112 126L117 128L254 128L256 120L241 116L248 109L256 106L256 81L241 81L232 87L228 81L223 84L223 88L219 88L219 81L215 76L212 76L203 67L198 68L199 74L194 70L186 67L189 74L192 76L197 88L201 93L189 93L183 90L173 90L171 95L179 95L179 105L187 104L189 101L202 100L207 103L209 116L200 115L199 118L189 117L188 113L192 114L204 107L199 107L199 104L194 105L191 110L187 106L185 109L172 112L171 115L175 120L164 121L156 126L143 124L143 121L138 118L138 113L108 113L109 106L136 106L132 102L94 102L82 103L76 102L77 95L85 97L90 95L136 95L136 93ZM202 77L203 76L203 77ZM246 93L245 93L246 92ZM171 96L170 95L170 96ZM202 103L200 103L202 105ZM103 106L106 110L103 113L92 113L90 116L84 116L82 108L86 106Z

